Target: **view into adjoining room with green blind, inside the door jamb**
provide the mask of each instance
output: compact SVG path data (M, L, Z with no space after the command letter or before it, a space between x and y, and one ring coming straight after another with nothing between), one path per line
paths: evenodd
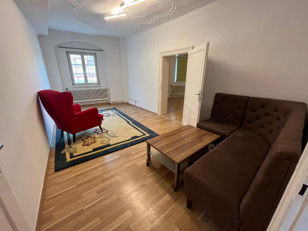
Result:
M182 123L188 53L170 55L167 113L163 116Z

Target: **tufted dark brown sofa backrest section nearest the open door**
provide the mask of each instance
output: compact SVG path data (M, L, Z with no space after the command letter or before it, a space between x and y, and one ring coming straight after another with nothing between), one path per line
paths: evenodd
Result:
M216 93L211 119L241 126L249 96Z

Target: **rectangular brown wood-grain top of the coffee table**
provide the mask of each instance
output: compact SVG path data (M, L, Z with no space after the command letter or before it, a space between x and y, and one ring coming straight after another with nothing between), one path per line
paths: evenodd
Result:
M146 142L171 160L180 163L219 137L200 128L185 125Z

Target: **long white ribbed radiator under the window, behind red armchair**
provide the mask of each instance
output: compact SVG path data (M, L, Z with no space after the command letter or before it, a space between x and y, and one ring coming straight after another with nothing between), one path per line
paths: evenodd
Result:
M67 91L72 93L74 103L98 103L109 100L108 87L76 87Z

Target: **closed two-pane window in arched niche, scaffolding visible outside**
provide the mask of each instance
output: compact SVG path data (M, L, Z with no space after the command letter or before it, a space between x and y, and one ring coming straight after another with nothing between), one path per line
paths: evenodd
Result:
M95 53L67 51L73 85L98 85L99 76Z

